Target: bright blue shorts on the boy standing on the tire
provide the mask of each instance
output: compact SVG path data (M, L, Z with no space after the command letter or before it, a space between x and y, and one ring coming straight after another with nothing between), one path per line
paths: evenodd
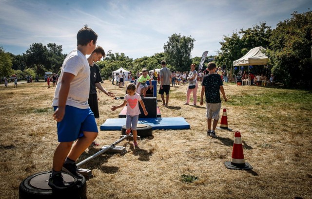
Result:
M54 110L57 108L55 106ZM73 142L83 136L83 131L98 133L97 122L90 108L78 109L66 105L63 120L57 126L59 142Z

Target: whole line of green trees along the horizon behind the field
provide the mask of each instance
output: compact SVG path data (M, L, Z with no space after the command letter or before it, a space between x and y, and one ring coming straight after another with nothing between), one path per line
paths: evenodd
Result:
M191 56L195 38L173 34L164 44L164 52L152 56L133 59L124 53L107 51L106 57L98 62L101 75L108 78L120 67L136 73L142 68L160 68L161 60L166 60L172 71L188 71L191 63L198 66L201 57ZM250 49L262 46L270 59L268 71L287 88L311 89L312 72L312 11L292 13L290 19L280 21L272 30L266 22L252 28L234 31L232 36L222 36L221 48L215 58L218 66L227 66L234 71L233 61L242 57ZM62 54L62 46L49 43L33 43L22 55L4 52L0 47L0 77L11 74L43 75L44 72L59 72L67 54ZM205 67L204 67L205 68ZM257 67L254 67L256 70Z

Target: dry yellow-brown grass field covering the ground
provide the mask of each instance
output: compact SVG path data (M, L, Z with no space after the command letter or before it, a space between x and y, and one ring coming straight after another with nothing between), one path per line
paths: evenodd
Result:
M118 97L125 93L107 80L103 86ZM50 170L58 145L54 87L47 89L44 82L12 87L0 85L1 199L17 199L23 179ZM83 165L94 172L87 181L88 199L312 198L310 92L224 86L229 100L222 109L227 109L229 127L241 132L245 160L254 167L241 171L224 166L231 159L234 132L217 130L217 138L207 136L206 109L183 105L186 89L172 88L169 107L160 111L162 117L184 117L191 129L154 130L154 138L138 142L139 149L123 141L124 156L104 154ZM197 93L199 105L200 89ZM121 109L110 108L122 101L102 92L98 96L99 128L107 118L118 117ZM100 131L97 142L110 145L119 136L120 131ZM99 148L88 148L78 162Z

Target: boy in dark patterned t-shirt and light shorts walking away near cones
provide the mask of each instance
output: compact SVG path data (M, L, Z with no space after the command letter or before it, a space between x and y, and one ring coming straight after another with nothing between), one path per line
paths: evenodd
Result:
M206 97L206 117L207 117L207 125L208 131L207 135L211 137L215 137L215 128L219 121L219 113L221 109L221 98L220 91L223 95L223 99L228 101L225 96L225 92L223 89L223 81L219 74L215 74L216 65L214 62L208 63L208 71L209 74L206 74L201 83L201 95L200 95L200 105L203 105L203 96L205 93ZM211 122L214 119L213 129L211 129Z

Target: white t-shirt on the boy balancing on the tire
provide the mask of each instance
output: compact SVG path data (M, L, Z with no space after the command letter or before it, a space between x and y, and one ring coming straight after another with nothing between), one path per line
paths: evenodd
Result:
M62 86L62 78L64 72L75 75L70 83L66 105L76 107L78 109L88 109L88 98L90 92L90 69L89 63L84 54L77 49L73 50L64 59L59 82L54 93L52 106L59 106L59 90Z

